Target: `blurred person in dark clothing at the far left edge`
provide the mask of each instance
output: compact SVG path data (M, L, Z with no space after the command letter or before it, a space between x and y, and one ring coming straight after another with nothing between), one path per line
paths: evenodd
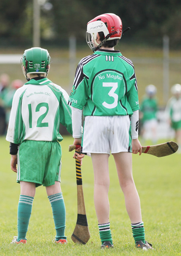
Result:
M0 135L6 133L6 111L4 108L3 98L4 95L7 93L9 81L10 79L8 74L0 75Z

